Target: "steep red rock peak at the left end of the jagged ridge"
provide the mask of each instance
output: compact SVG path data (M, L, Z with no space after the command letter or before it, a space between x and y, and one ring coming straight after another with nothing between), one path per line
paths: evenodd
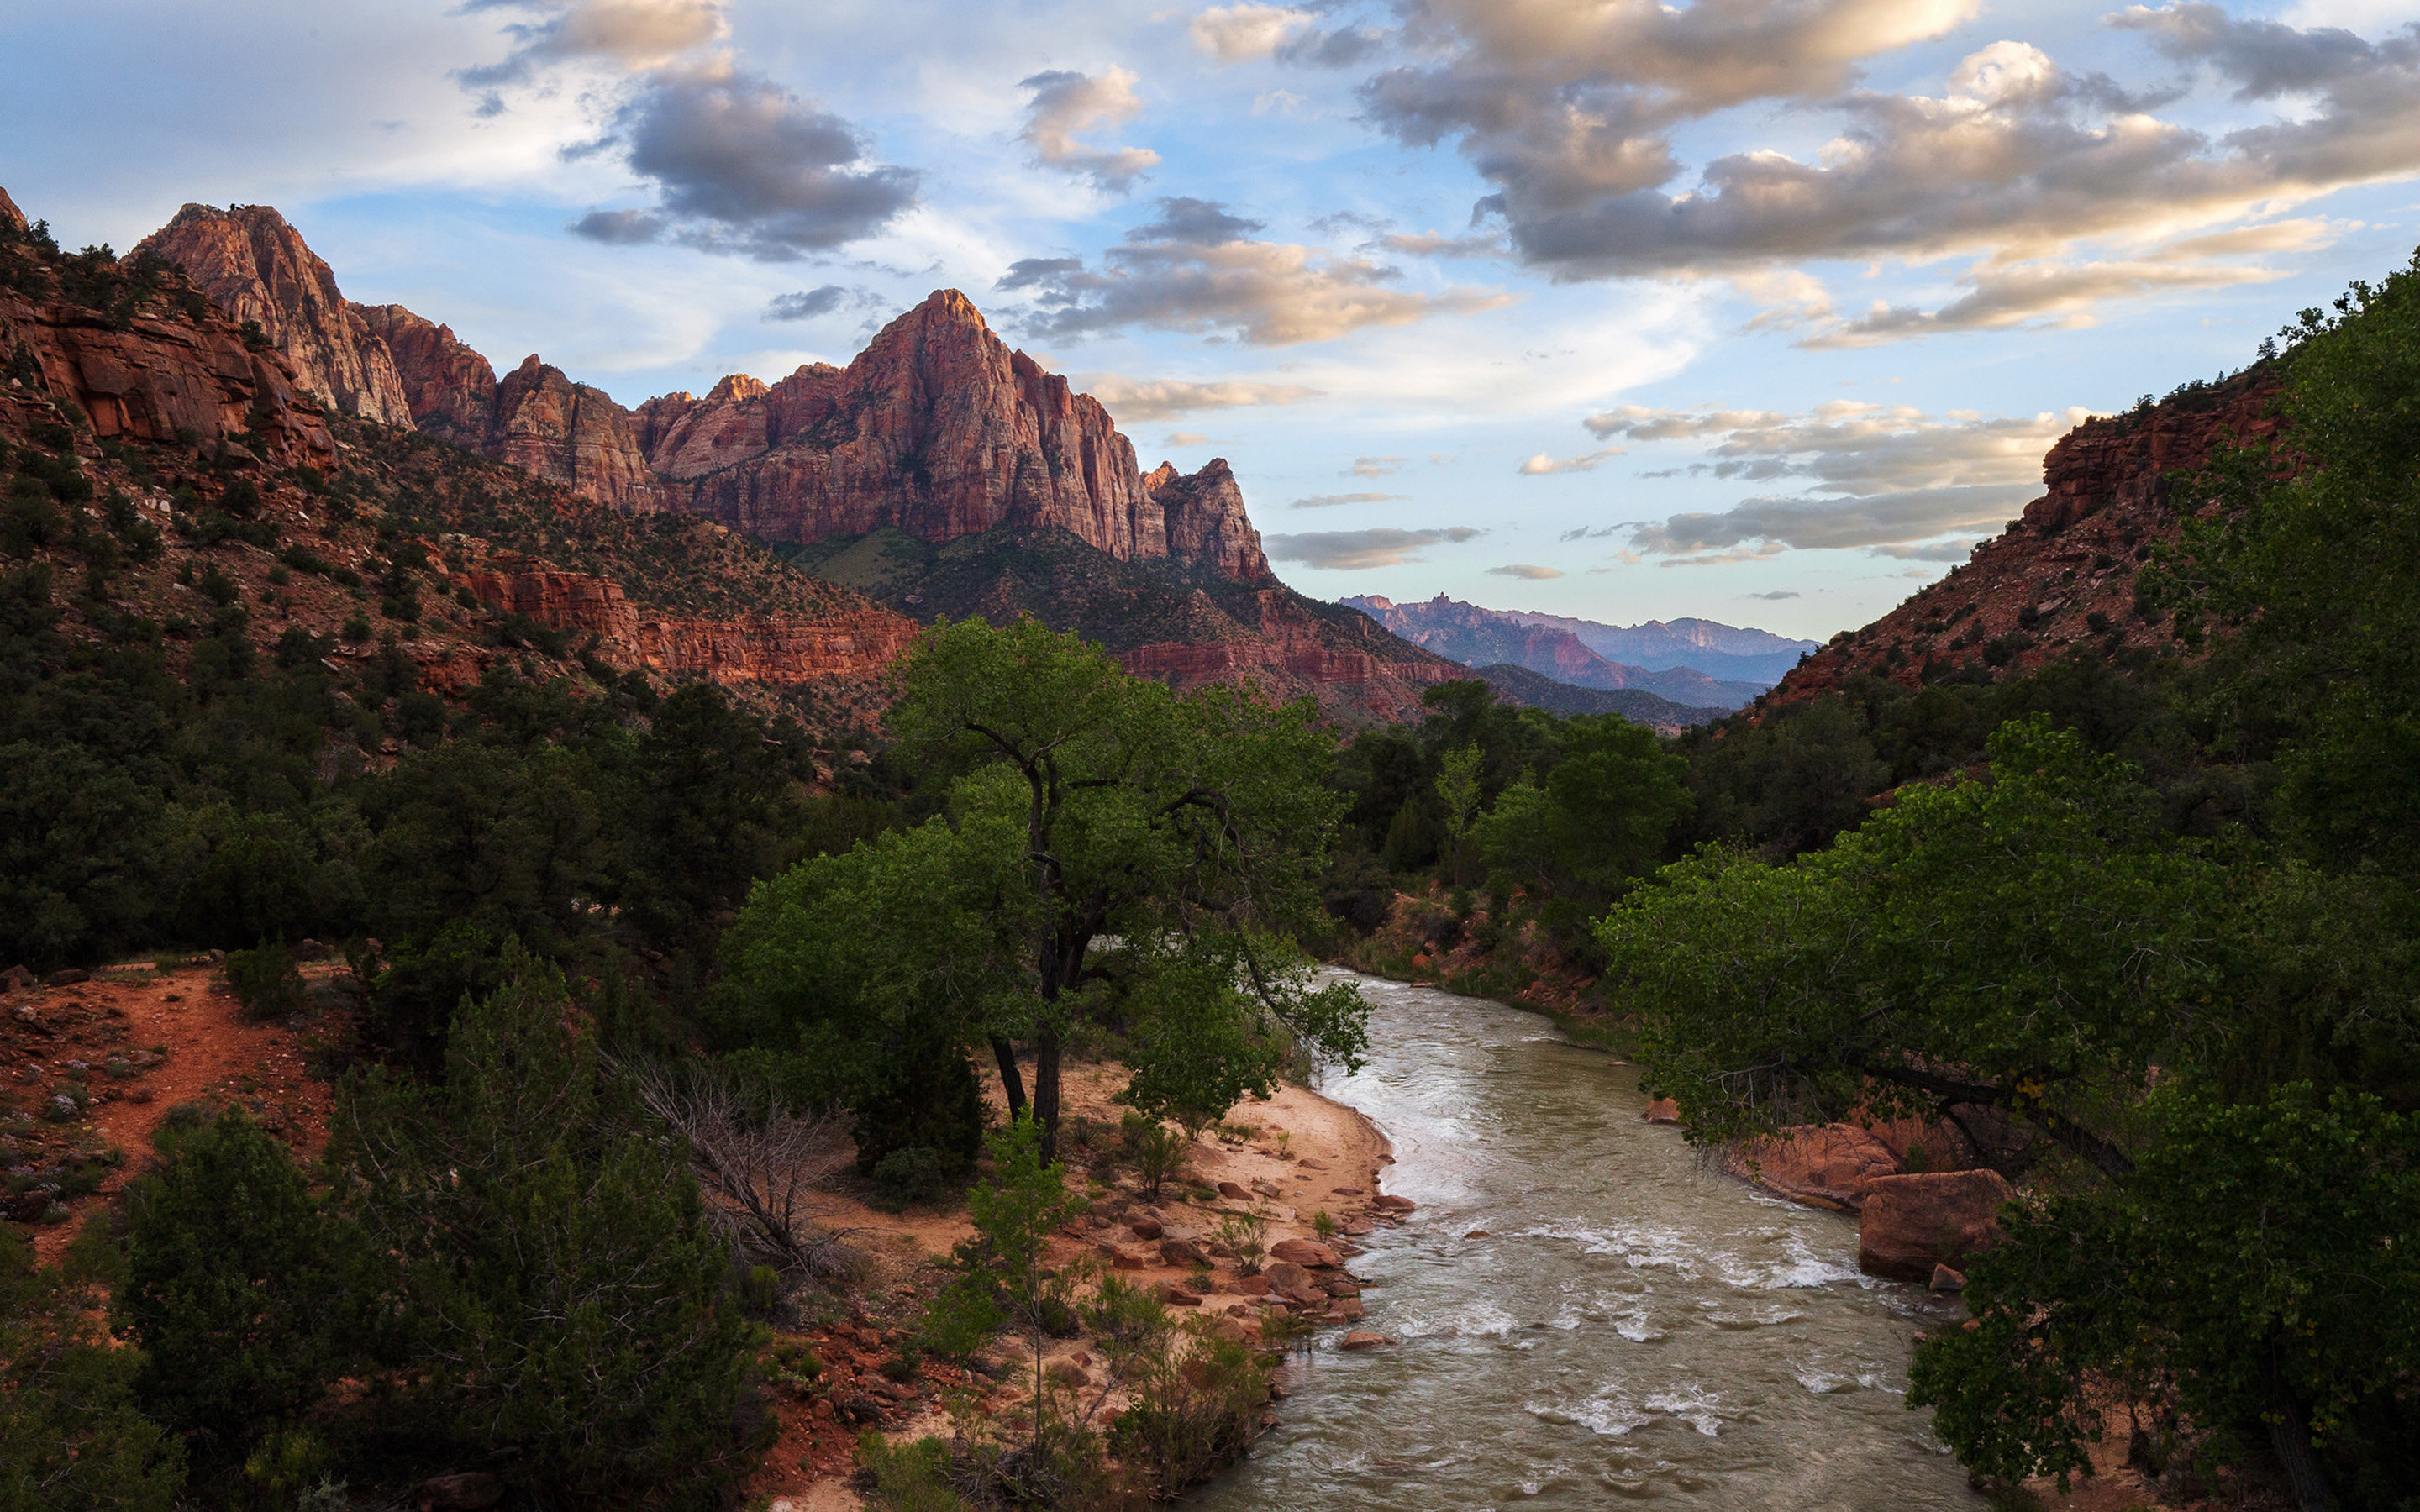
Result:
M387 344L336 293L336 273L269 206L186 206L136 252L182 266L237 327L257 319L295 385L344 414L409 426Z

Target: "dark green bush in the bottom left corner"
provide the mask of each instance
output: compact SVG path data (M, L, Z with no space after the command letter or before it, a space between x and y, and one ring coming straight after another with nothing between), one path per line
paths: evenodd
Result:
M0 1512L167 1512L184 1447L136 1401L140 1350L94 1323L90 1277L36 1268L0 1224Z

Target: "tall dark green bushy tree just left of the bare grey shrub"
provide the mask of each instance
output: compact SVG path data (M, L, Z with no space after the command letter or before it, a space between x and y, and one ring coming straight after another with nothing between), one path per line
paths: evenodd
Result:
M709 1500L760 1447L753 1326L724 1297L678 1142L566 1028L561 975L513 953L467 1004L445 1084L346 1084L332 1135L348 1205L394 1258L433 1430L518 1447L513 1476L620 1505Z

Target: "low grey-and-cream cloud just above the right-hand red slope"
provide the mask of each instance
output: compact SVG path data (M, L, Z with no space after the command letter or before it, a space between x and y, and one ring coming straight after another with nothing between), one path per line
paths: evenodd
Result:
M1963 559L1951 532L1989 532L2040 494L2042 452L2081 409L2013 419L1929 416L1914 406L1839 399L1788 416L1759 409L1621 406L1585 423L1602 438L1706 440L1692 472L1721 479L1805 479L1798 496L1742 498L1631 530L1631 549L1675 564L1762 559L1781 549L1871 547L1912 561ZM1946 552L1955 556L1943 556ZM1742 556L1745 554L1745 556Z

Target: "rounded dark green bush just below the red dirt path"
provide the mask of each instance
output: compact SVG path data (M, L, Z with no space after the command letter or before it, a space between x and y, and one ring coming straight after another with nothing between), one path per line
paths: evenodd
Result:
M148 1413L225 1473L348 1362L351 1243L286 1147L240 1110L162 1125L157 1144L162 1168L128 1193L111 1323L143 1345Z

